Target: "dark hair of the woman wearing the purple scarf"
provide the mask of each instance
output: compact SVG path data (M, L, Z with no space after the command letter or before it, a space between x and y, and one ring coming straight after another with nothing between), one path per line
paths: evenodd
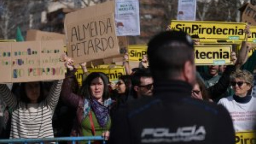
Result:
M104 85L104 91L102 95L102 99L106 100L109 98L109 89L108 89L108 84L109 84L109 78L106 74L101 73L101 72L93 72L90 73L85 80L82 82L81 89L79 91L79 95L85 98L90 98L91 93L90 93L90 85L93 81L94 78L100 77L103 81Z

